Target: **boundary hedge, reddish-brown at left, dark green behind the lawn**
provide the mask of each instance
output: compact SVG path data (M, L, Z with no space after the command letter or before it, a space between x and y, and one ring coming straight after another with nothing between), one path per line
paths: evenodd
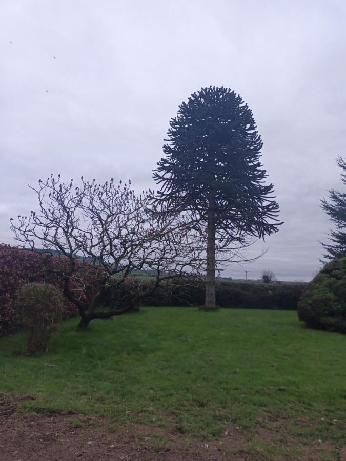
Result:
M29 282L45 282L62 288L62 279L49 272L68 264L66 258L52 256L44 263L47 255L27 252L20 248L0 244L0 336L10 334L18 329L17 313L14 307L16 292ZM71 278L75 288L83 286L85 302L98 291L98 282L93 278L93 271L87 264L79 263L81 268L77 276ZM90 270L88 269L90 268ZM47 271L48 268L48 271ZM80 285L82 283L82 285ZM144 285L154 283L152 279L131 278L131 283ZM296 310L298 300L305 284L287 283L238 283L217 282L216 303L219 307L236 307L250 309ZM108 300L102 300L107 304ZM152 296L145 299L146 306L202 306L205 301L205 284L196 279L173 279L162 283ZM65 299L65 317L75 313L75 306Z

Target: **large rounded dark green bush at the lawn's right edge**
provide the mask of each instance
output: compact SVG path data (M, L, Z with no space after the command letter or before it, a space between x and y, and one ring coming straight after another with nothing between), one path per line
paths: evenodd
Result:
M308 283L298 317L308 327L346 333L346 258L331 261Z

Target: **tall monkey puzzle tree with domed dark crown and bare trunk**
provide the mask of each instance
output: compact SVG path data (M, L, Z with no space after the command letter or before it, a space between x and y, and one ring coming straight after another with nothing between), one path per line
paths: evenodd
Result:
M232 245L239 249L251 238L276 232L279 206L273 185L264 184L262 141L252 111L234 91L209 87L193 93L170 127L166 157L154 172L161 184L156 201L163 215L192 212L194 228L205 235L210 309L215 306L215 250L225 255Z

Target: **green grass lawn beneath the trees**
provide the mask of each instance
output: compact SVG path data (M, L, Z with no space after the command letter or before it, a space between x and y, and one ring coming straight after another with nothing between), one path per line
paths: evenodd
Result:
M202 438L230 426L255 434L262 421L302 444L342 444L345 338L303 328L296 312L143 308L85 332L77 321L39 357L21 354L24 334L0 339L0 391L35 396L21 404L29 410L170 424ZM256 435L252 444L273 449Z

